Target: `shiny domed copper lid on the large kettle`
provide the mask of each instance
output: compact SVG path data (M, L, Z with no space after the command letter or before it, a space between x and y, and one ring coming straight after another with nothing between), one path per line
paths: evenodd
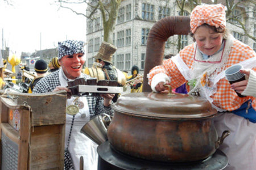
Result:
M141 92L122 95L112 105L114 111L153 118L204 118L217 111L208 100L188 94Z

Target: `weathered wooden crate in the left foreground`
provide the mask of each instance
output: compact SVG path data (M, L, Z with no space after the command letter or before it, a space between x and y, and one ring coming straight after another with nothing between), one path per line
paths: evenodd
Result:
M67 96L14 93L0 99L1 169L63 169Z

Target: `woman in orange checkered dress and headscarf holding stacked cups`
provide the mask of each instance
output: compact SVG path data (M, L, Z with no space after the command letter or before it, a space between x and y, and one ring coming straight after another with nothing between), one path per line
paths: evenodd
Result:
M188 94L206 98L217 109L214 125L218 135L230 130L220 146L229 160L225 169L253 170L256 167L256 53L228 33L223 5L196 6L190 18L195 42L175 57L164 60L163 65L154 67L147 75L148 83L153 91L160 92L165 90L163 84L176 88L188 82ZM224 70L237 63L245 68L240 71L249 78L230 85Z

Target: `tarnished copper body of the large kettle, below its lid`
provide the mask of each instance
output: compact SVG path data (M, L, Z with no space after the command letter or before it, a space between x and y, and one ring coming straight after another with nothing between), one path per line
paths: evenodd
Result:
M160 162L191 162L216 151L212 118L159 120L114 112L108 139L118 151Z

